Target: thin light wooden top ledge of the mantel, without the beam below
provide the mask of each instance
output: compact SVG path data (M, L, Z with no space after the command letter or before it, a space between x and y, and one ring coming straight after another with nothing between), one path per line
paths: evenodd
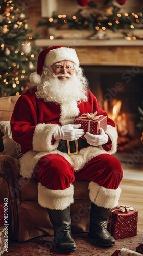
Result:
M88 40L82 38L73 39L37 39L36 46L50 47L53 45L64 45L70 47L80 46L143 46L143 40L109 39L109 40Z

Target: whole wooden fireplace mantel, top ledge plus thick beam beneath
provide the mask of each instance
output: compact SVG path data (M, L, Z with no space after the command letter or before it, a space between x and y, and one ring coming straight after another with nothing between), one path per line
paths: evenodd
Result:
M38 39L35 44L75 48L80 65L143 67L143 40Z

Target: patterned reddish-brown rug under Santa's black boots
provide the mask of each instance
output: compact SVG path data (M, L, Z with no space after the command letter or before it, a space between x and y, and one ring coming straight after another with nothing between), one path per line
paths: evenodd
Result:
M3 255L18 256L36 256L36 255L77 255L77 256L111 256L117 249L127 248L135 251L135 248L143 242L143 230L137 231L137 236L118 239L112 247L99 247L94 245L93 239L88 237L88 233L73 234L73 238L77 244L77 251L71 253L59 252L53 245L53 236L42 236L30 239L25 242L14 242L9 239L8 253Z

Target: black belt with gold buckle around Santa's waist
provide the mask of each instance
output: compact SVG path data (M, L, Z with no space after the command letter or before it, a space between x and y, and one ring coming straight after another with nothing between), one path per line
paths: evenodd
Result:
M78 144L78 151L80 151L81 148L89 146L87 141L84 139L78 139L78 140L72 140L72 141L60 140L57 150L68 153L68 155L78 154L76 141Z

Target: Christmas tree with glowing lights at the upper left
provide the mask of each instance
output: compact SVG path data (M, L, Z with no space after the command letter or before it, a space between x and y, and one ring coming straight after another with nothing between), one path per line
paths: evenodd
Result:
M40 51L33 46L39 35L31 36L25 7L17 0L0 0L0 97L19 95L31 84Z

